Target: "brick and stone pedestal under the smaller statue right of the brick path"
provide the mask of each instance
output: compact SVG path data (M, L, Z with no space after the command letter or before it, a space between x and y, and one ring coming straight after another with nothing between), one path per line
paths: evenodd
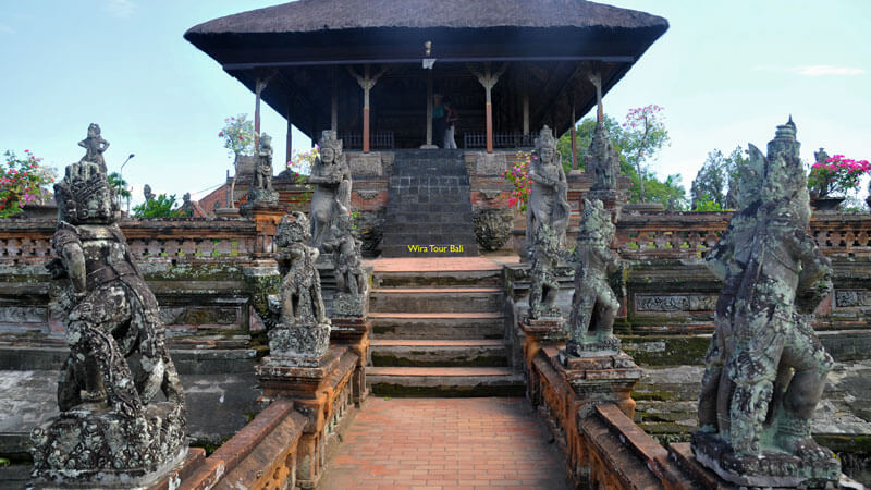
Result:
M611 402L627 417L633 417L635 401L630 395L635 383L641 379L641 369L628 354L577 357L561 350L556 357L556 371L568 381L579 401L585 404Z

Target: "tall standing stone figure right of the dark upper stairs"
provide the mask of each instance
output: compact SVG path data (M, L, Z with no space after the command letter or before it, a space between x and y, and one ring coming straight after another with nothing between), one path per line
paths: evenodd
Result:
M565 245L565 231L568 228L568 184L556 151L556 138L550 127L544 126L536 138L536 149L529 163L529 179L532 189L527 204L526 241L536 240L539 226L547 224L556 233L560 246Z

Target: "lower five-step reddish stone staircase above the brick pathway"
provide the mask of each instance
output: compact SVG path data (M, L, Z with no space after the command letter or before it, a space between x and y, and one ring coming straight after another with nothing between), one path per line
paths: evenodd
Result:
M504 341L501 270L376 272L372 392L390 396L522 396Z

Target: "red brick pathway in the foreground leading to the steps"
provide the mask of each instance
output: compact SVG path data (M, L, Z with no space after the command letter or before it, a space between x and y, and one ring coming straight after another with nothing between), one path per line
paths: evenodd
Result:
M524 399L370 396L318 489L567 489L536 417Z

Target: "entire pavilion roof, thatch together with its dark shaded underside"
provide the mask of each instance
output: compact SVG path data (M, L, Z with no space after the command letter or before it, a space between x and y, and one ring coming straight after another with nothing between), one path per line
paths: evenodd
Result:
M345 69L387 69L372 91L372 128L414 146L426 113L426 41L438 59L436 89L459 106L469 131L483 125L484 95L467 66L507 63L493 91L495 131L519 131L528 87L531 128L561 132L572 125L569 102L577 115L596 103L587 72L601 74L606 93L667 28L660 16L586 0L299 0L184 37L252 90L269 78L262 100L308 135L329 124L332 84L340 132L359 132L361 91Z

